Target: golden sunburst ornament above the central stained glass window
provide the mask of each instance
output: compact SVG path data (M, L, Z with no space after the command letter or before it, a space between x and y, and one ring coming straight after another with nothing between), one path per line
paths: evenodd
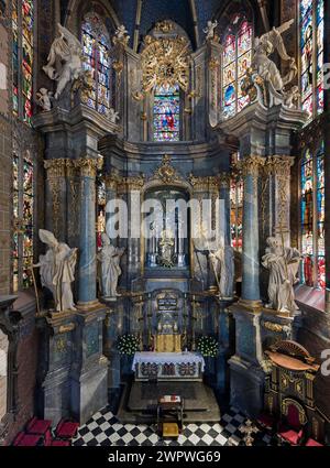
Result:
M145 37L141 53L143 90L157 86L178 85L184 91L189 87L189 43L185 37Z

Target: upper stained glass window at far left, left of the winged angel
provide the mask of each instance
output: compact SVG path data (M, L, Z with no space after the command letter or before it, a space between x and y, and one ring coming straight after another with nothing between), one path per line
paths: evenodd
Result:
M12 6L12 110L31 123L33 102L33 0L14 0Z

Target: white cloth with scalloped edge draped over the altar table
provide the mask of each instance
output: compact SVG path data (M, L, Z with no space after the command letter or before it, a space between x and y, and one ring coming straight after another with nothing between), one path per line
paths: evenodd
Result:
M154 352L142 351L135 352L132 370L135 370L135 364L155 363L155 364L183 364L183 363L200 363L200 370L204 372L205 360L198 352Z

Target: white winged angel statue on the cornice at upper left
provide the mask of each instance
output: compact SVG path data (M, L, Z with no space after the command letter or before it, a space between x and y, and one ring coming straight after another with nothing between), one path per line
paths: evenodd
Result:
M80 42L59 23L57 23L57 30L59 37L54 40L47 64L43 66L45 74L57 81L55 99L58 99L68 83L78 79L84 74Z

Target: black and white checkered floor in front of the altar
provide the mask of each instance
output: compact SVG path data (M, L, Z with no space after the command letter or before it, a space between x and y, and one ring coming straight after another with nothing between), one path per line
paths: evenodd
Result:
M222 416L220 423L187 424L177 440L164 440L156 434L155 426L121 424L106 407L79 428L73 445L235 446L243 444L240 426L244 421L245 417L231 407ZM264 433L260 432L255 436L255 445L270 445L270 443L271 438Z

